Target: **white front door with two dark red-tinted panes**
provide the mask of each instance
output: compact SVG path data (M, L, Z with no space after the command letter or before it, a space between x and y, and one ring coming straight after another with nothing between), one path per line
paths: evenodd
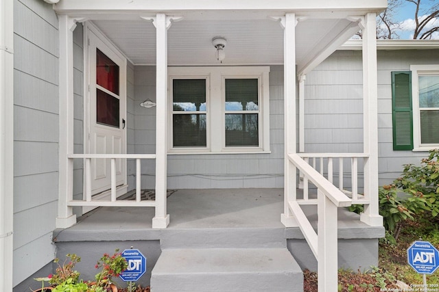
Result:
M87 26L86 37L88 152L126 153L126 59L115 48L110 48L93 27ZM116 159L116 174L118 195L121 195L126 191L126 159ZM110 159L92 159L92 194L108 194L110 186Z

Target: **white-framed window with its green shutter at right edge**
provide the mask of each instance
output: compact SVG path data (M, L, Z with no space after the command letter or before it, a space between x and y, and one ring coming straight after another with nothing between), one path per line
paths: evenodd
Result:
M392 72L394 150L439 147L439 65Z

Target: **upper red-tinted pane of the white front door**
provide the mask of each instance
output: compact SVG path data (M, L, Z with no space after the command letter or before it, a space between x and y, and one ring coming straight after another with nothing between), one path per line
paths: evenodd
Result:
M119 95L119 66L96 49L96 83Z

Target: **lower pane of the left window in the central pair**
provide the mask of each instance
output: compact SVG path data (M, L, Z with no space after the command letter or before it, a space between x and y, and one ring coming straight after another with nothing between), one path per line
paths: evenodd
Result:
M174 147L206 147L206 115L174 114Z

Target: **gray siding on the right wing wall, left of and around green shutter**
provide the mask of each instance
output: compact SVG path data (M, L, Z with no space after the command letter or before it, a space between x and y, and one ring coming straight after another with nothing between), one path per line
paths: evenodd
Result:
M392 148L392 71L438 64L438 50L377 51L379 185L397 178L403 164L426 152ZM305 152L363 152L361 51L336 51L305 81ZM359 174L362 176L362 174Z

